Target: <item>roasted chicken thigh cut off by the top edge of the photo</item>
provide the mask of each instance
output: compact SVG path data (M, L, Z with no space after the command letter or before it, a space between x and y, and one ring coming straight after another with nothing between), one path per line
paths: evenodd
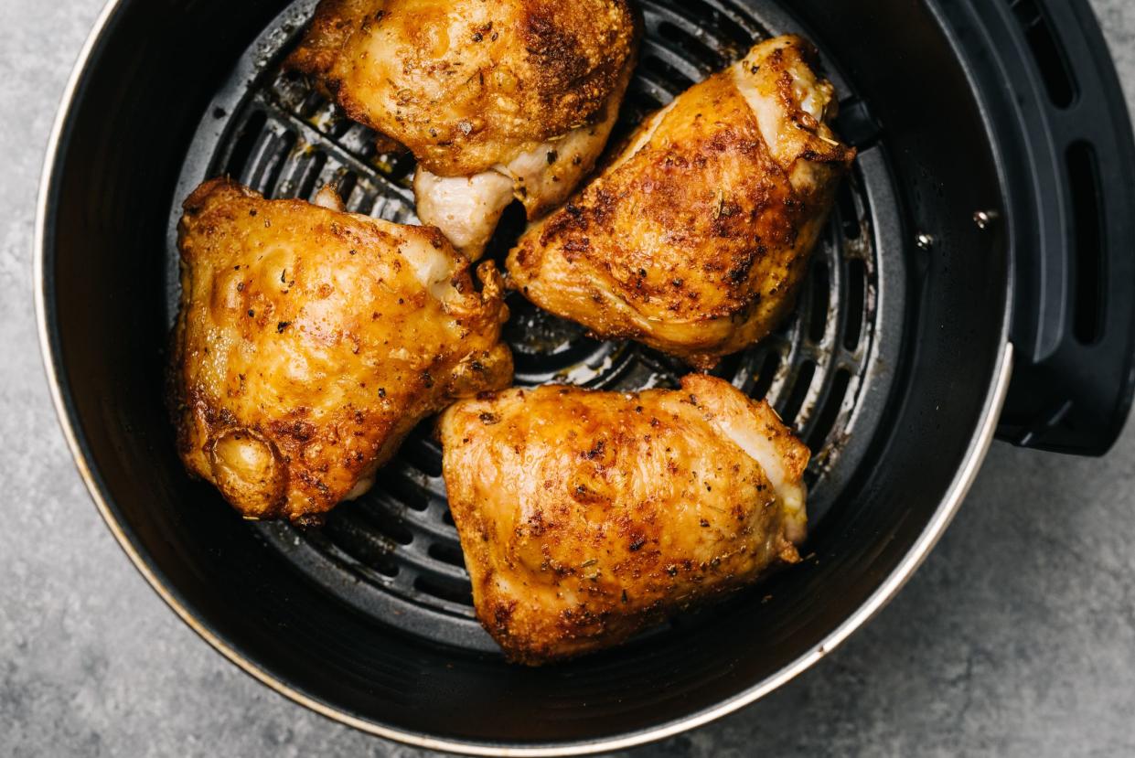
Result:
M477 260L591 171L638 35L628 0L321 0L286 65L414 154L419 218Z

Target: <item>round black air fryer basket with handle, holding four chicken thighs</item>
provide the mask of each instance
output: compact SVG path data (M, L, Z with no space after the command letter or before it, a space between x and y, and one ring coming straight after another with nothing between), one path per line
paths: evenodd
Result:
M1109 211L1135 207L1135 159L1083 3L641 0L622 128L755 40L798 32L860 151L797 317L717 370L767 394L816 454L807 557L619 650L505 664L473 618L428 426L321 529L242 522L174 452L161 373L193 186L228 174L310 197L331 182L351 210L415 220L411 162L376 155L365 129L279 71L313 5L112 3L56 135L40 227L49 371L95 500L174 609L279 691L462 751L673 733L798 673L898 589L992 438L1010 336L1023 349L1003 435L1101 452L1118 432L1135 273L1117 252L1135 231ZM510 305L518 384L640 388L684 371Z

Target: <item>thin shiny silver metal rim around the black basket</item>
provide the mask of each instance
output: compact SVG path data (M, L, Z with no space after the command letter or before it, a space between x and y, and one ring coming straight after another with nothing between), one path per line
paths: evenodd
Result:
M1007 334L1002 335L1001 351L997 360L994 374L983 402L983 410L978 424L972 432L968 453L962 461L962 464L959 466L945 497L942 498L926 528L911 546L905 558L881 582L868 600L864 603L851 616L846 618L838 628L835 628L821 643L816 645L807 654L782 667L776 674L754 684L751 688L732 699L725 700L717 704L715 707L703 709L687 717L674 719L653 728L620 735L617 738L508 748L502 744L487 742L456 742L439 740L427 734L405 732L375 724L356 715L336 709L275 677L268 671L260 667L251 656L236 649L234 646L230 646L194 615L193 610L188 608L185 603L183 603L178 591L157 568L151 559L151 556L145 553L145 548L138 542L131 528L121 520L112 496L109 491L107 491L104 483L91 464L91 453L76 422L70 387L68 386L62 371L62 355L60 352L58 323L54 318L56 314L53 312L49 313L48 310L48 304L52 295L53 281L50 281L47 278L45 271L49 270L47 267L47 258L51 254L48 252L51 235L50 229L58 209L58 196L54 186L56 171L58 168L57 157L61 154L61 148L69 140L72 110L76 95L78 95L82 90L84 74L89 70L89 61L93 51L102 41L103 34L111 27L119 5L119 0L108 0L107 5L100 12L67 82L61 104L47 144L45 160L43 171L41 174L36 202L37 208L33 243L33 287L40 347L43 355L52 402L59 416L60 427L64 431L72 456L92 499L95 503L95 506L115 539L159 597L161 597L161 599L191 629L193 629L209 645L216 648L221 655L239 666L247 674L259 680L261 683L270 687L280 694L284 694L300 705L363 732L434 750L491 756L570 756L625 749L671 736L720 718L754 702L802 673L839 646L854 631L866 623L883 606L885 606L885 604L911 576L914 571L922 564L943 534L945 528L949 525L961 502L965 499L970 486L973 485L994 438L998 418L1008 394L1009 379L1012 369L1014 349Z

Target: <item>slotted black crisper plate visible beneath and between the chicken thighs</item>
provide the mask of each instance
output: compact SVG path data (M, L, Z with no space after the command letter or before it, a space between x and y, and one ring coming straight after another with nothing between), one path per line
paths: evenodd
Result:
M756 41L807 35L766 5L756 10L733 0L644 0L639 6L646 39L617 134ZM313 0L297 0L279 14L203 116L170 209L170 323L177 308L180 201L205 178L228 175L267 197L311 199L330 183L353 212L418 221L412 160L376 154L371 132L337 113L302 78L280 71L313 7ZM906 283L896 196L877 128L832 61L825 67L843 104L838 129L856 143L859 158L815 252L797 315L715 371L754 397L767 396L812 448L806 480L813 524L838 503L880 423L897 365ZM688 371L634 343L590 339L582 328L516 295L508 304L513 318L505 336L518 385L558 381L636 390L674 386ZM473 617L430 428L430 422L419 428L373 490L339 506L322 528L264 523L249 529L309 580L376 621L437 642L494 651Z

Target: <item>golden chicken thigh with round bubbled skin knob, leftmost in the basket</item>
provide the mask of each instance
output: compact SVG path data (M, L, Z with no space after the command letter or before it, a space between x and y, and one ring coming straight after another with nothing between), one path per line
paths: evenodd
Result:
M201 185L179 226L170 409L186 468L250 519L356 497L424 416L512 381L501 277L436 229Z

